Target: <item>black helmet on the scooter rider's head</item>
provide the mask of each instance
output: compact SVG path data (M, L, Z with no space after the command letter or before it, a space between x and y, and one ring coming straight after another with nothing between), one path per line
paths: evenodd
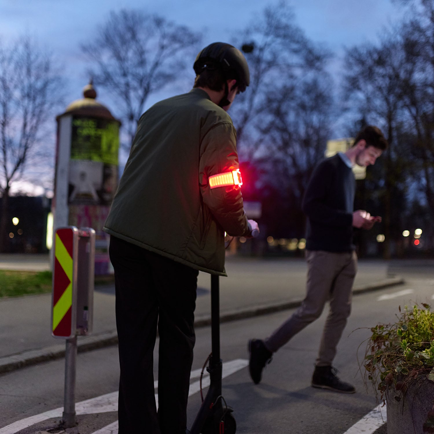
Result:
M205 47L196 57L193 69L200 74L205 69L221 68L223 73L234 71L237 76L238 92L244 92L250 84L250 72L243 53L233 45L214 42Z

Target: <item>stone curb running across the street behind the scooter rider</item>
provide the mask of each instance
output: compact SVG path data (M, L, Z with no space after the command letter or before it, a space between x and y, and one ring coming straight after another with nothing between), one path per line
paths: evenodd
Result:
M401 277L392 277L389 279L381 280L377 283L367 286L360 286L353 289L353 294L363 294L378 289L388 288L389 286L401 285L405 283ZM282 310L294 309L300 306L302 300L294 300L284 303L266 304L254 306L243 310L233 310L223 312L220 315L220 324L223 322L230 322L239 319L253 318L255 316L267 315L274 312L280 312ZM211 325L211 317L203 316L198 317L194 321L194 327L207 327ZM109 331L100 333L99 335L87 336L81 338L79 336L77 342L77 352L91 351L94 349L105 348L110 345L118 344L117 332ZM38 350L24 351L19 354L13 354L0 358L0 374L6 372L15 371L26 366L36 365L41 362L48 362L50 360L56 360L65 357L65 344L53 345Z

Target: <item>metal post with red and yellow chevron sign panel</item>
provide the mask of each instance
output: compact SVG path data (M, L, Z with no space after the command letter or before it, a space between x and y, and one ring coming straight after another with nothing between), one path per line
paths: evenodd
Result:
M56 230L51 333L66 339L63 424L76 424L77 335L89 335L93 322L95 230L75 226Z

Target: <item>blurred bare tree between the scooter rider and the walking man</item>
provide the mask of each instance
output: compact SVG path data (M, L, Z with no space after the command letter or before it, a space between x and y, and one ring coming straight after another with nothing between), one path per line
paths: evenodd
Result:
M240 158L256 168L263 203L279 203L279 213L264 209L266 224L302 236L302 196L330 134L331 55L305 36L286 1L266 7L234 45L250 69L250 86L231 111Z

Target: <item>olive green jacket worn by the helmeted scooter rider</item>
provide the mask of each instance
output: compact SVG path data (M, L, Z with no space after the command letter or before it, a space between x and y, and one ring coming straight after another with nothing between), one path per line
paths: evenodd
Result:
M210 189L238 168L230 116L192 89L153 105L137 127L105 232L196 270L226 276L224 232L250 235L240 187Z

